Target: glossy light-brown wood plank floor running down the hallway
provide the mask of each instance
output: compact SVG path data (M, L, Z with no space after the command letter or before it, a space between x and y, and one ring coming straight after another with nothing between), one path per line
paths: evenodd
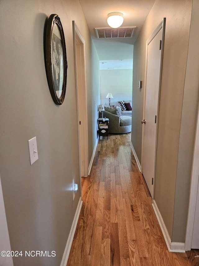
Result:
M166 247L130 138L98 142L67 266L191 266L186 253Z

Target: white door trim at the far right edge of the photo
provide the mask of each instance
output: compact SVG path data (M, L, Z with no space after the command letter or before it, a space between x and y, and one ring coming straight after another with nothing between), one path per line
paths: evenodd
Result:
M199 176L199 108L198 108L196 137L195 137L193 162L192 162L187 230L185 237L185 251L191 250L192 246L193 225L194 225L194 218L196 211L196 200L197 200L197 189L198 189L198 176Z

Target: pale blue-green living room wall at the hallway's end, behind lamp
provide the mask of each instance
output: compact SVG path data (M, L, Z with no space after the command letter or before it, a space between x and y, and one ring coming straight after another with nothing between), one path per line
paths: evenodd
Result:
M132 69L100 70L100 99L104 106L109 105L106 95L113 95L111 105L117 101L132 100Z

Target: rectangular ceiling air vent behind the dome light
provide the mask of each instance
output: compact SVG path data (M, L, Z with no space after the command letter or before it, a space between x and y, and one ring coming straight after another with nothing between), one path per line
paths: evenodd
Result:
M131 38L136 27L95 28L98 39L101 38Z

